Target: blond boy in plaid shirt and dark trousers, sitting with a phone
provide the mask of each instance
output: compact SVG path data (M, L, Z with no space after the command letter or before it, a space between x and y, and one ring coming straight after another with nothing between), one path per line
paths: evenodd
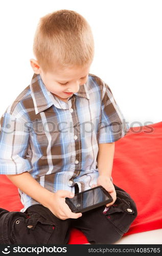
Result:
M1 174L18 187L24 208L0 208L0 242L66 244L76 227L91 244L114 243L137 211L112 183L114 141L128 129L107 84L89 74L91 29L77 12L47 14L38 24L33 51L31 84L1 118ZM72 212L65 197L96 185L113 202Z

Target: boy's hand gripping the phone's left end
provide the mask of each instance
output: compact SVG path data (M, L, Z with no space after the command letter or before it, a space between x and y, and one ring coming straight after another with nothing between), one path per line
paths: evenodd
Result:
M58 190L56 193L51 193L51 197L48 201L48 207L52 213L61 220L69 218L77 219L82 216L81 212L75 214L71 211L68 205L65 203L65 197L73 198L74 193L68 190Z

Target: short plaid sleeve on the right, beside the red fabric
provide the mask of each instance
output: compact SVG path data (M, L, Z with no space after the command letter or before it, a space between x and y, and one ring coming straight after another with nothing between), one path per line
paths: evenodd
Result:
M104 83L98 143L112 143L124 137L129 126L108 85Z

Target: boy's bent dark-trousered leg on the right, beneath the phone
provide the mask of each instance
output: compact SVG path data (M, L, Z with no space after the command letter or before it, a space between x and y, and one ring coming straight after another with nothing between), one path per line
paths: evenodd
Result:
M123 189L114 185L117 200L106 212L105 206L83 212L82 217L73 220L73 226L80 229L91 244L113 244L126 233L137 216L136 205Z

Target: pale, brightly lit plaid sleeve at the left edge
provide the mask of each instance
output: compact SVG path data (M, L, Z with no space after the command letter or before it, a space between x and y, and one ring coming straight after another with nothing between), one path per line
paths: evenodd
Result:
M1 117L0 174L21 174L31 170L28 159L29 127L5 112Z

